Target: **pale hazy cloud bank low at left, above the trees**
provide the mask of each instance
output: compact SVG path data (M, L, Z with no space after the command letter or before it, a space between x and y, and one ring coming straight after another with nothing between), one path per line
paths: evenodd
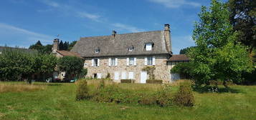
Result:
M53 36L39 34L27 29L21 29L9 24L0 23L0 39L5 39L6 43L1 44L19 44L20 46L29 46L40 40L42 44L51 44Z

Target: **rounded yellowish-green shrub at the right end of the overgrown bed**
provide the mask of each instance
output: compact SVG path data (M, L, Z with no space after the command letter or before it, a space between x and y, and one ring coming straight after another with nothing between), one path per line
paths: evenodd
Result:
M194 106L194 96L189 82L179 86L179 91L174 95L174 104L178 106Z

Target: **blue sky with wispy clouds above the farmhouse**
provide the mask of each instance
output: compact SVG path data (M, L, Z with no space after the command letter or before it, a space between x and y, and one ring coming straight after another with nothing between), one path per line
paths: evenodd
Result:
M187 46L201 6L209 0L8 0L0 1L0 46L28 47L83 36L162 30L171 25L174 54Z

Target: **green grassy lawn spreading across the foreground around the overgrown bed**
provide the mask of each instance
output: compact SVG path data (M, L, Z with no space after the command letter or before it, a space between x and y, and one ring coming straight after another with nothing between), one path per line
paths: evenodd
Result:
M4 90L20 86L30 89ZM160 84L119 86L142 92L161 87ZM176 91L178 86L173 88ZM75 101L75 84L35 83L30 86L0 82L0 119L256 119L256 86L231 88L234 93L194 92L195 106L182 108Z

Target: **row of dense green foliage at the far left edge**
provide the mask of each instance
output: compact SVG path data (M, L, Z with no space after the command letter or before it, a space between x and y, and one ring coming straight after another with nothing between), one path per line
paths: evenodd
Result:
M49 54L5 49L0 56L0 79L1 81L31 80L33 74L50 74L56 64L57 58Z

